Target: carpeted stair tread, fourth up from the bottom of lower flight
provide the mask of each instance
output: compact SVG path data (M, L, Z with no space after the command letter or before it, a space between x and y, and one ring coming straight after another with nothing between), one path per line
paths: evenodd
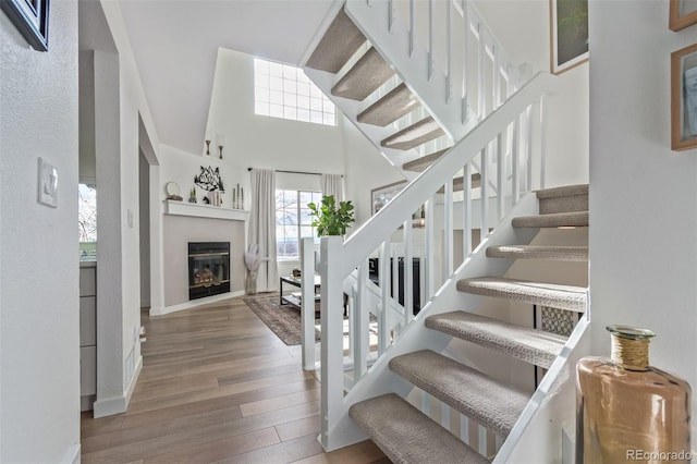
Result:
M586 289L582 286L502 277L480 277L458 280L457 290L475 295L496 296L577 313L586 312Z

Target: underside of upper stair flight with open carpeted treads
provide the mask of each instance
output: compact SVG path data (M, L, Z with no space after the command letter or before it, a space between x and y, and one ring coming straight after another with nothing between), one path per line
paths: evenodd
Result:
M425 151L433 161L432 147L442 155L443 147L452 146L452 139L343 9L307 60L305 72L395 166L418 159Z

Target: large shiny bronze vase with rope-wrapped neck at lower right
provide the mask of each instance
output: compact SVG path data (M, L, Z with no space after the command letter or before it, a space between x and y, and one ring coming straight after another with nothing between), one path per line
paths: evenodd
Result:
M576 463L641 460L636 453L661 455L651 462L690 462L689 384L649 365L656 333L607 329L611 358L587 356L576 365Z

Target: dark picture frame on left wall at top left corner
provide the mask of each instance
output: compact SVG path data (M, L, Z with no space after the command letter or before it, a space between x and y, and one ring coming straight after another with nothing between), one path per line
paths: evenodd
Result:
M22 37L37 51L48 51L48 12L50 0L0 0Z

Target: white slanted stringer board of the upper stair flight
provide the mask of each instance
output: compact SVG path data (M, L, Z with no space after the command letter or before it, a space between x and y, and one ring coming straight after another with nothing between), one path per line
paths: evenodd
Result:
M390 2L347 1L344 11L368 38L372 46L392 64L396 74L419 99L440 126L453 141L461 139L479 121L472 108L467 107L463 123L463 108L460 98L445 100L448 78L433 70L428 78L428 51L418 44L409 57L409 33L399 17L392 17L392 30L388 30Z

